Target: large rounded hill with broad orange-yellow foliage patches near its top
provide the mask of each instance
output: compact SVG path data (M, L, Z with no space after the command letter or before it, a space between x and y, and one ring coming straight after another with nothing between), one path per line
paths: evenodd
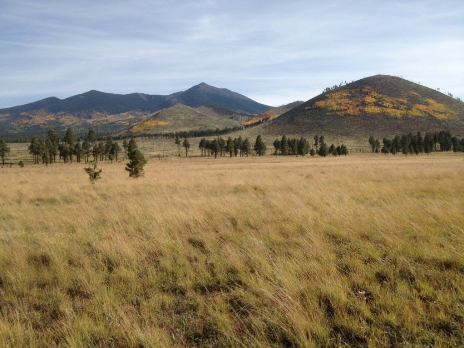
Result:
M350 138L448 130L464 135L464 103L388 75L367 77L322 93L262 125L262 132Z

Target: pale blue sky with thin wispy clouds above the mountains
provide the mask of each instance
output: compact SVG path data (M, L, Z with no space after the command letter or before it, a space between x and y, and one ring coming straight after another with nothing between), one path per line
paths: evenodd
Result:
M462 0L0 0L0 108L201 82L279 106L376 74L464 100Z

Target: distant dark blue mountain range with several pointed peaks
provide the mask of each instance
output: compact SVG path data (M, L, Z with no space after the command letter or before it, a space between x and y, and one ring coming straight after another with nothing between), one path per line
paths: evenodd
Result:
M63 133L67 127L75 132L93 128L99 134L117 133L144 121L148 115L184 104L190 107L216 105L223 109L256 114L269 109L241 94L201 83L170 95L143 93L111 94L89 91L66 99L55 97L0 109L0 137L27 139L44 134L48 128Z

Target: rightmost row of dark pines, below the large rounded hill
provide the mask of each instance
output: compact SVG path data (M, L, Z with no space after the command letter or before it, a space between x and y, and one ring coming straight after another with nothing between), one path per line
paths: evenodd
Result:
M431 152L464 152L464 138L459 139L452 136L448 131L440 131L431 133L428 132L424 136L421 132L417 134L403 134L395 136L393 139L384 138L381 144L378 139L373 136L369 137L369 145L371 153L393 154L402 153L408 154L430 154Z

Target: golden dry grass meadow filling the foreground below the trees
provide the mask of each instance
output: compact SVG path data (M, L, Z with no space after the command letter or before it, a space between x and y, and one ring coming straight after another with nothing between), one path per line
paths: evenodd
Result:
M0 168L1 347L464 345L462 154L124 166Z

